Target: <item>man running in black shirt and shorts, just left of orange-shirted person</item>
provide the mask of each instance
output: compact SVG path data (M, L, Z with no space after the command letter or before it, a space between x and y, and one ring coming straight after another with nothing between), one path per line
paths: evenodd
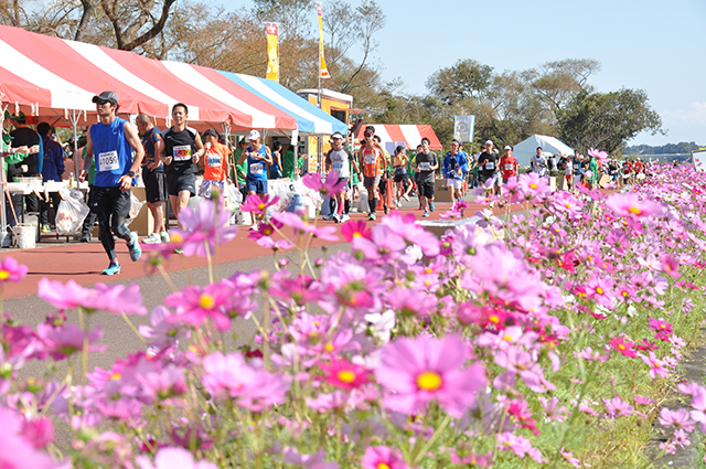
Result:
M160 157L167 164L167 193L176 222L179 213L186 207L189 199L196 195L196 172L204 148L201 136L191 127L186 127L189 108L183 103L172 106L174 125L162 134L164 153ZM179 249L180 251L180 249Z

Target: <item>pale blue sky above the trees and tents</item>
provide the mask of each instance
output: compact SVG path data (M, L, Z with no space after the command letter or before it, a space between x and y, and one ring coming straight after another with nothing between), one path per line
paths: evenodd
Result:
M597 90L645 89L662 116L666 136L643 134L631 143L706 145L706 0L376 1L387 24L376 36L375 58L385 79L403 78L406 93L426 93L427 77L459 58L498 72L595 58L601 71L589 83ZM313 33L314 19L315 11Z

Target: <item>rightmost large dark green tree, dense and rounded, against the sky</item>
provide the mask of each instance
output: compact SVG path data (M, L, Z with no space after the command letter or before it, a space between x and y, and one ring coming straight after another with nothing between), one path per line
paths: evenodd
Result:
M560 138L576 149L597 148L612 153L642 131L665 135L660 115L648 102L643 89L584 90L558 113Z

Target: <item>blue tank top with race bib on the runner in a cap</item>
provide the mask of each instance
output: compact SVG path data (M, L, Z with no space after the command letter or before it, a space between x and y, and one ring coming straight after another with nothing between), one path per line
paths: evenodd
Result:
M90 126L93 157L96 166L97 188L115 188L118 180L128 173L132 166L132 147L125 137L127 120L116 117L109 125L101 122Z

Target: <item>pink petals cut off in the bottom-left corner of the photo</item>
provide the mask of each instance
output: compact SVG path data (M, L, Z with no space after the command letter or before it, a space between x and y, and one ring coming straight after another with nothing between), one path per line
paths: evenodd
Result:
M23 435L20 418L0 406L0 468L58 469L60 466L49 455L38 451Z

